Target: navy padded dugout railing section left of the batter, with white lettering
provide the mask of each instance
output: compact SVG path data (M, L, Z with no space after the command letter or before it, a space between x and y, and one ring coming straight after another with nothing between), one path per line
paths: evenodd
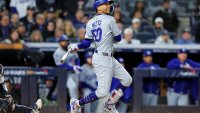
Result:
M42 113L66 113L66 76L67 71L55 67L7 67L5 66L5 77L21 77L21 103L32 106L39 97L38 78L57 77L57 99L55 106L44 106Z

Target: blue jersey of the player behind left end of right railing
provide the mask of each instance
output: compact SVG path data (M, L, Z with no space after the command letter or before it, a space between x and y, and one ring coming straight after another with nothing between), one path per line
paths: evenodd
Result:
M160 66L154 63L147 64L145 62L141 63L138 65L139 69L159 69ZM145 93L153 93L153 94L158 94L159 93L159 80L144 80L143 83L143 90Z

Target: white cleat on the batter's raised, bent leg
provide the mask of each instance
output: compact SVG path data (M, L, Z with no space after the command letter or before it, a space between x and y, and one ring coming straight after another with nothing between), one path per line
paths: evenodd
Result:
M109 104L108 101L104 104L104 110L108 113L119 113L115 108L115 104Z

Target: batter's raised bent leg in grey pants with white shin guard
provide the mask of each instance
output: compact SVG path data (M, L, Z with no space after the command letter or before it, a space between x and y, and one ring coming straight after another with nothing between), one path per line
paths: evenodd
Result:
M112 58L112 62L114 77L119 79L120 83L117 85L116 89L112 92L110 98L105 103L105 109L107 111L117 113L115 104L123 96L123 92L126 90L126 88L131 85L132 77L115 58Z

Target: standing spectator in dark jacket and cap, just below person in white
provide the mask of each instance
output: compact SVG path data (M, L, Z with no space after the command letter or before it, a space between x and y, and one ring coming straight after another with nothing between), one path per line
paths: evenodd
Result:
M34 20L35 7L28 6L26 12L27 12L26 16L21 18L20 21L24 23L26 27L27 36L29 36L31 28L35 24Z

